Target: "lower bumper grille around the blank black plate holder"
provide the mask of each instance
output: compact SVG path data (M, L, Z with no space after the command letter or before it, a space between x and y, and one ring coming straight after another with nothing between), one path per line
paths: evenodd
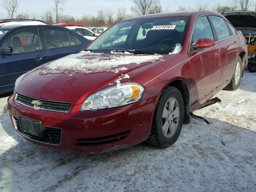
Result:
M44 130L45 130L44 138L39 138L37 136L30 135L26 132L22 132L22 130L20 129L20 120L16 117L13 117L13 118L16 121L18 132L20 132L20 134L26 136L27 138L38 141L38 142L46 143L46 144L52 144L52 145L60 144L61 134L62 134L61 128L53 128L53 127L44 126Z

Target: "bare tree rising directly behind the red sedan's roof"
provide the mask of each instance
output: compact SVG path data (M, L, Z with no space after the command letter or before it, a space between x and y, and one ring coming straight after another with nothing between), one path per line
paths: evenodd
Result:
M160 0L132 0L132 2L134 6L131 7L131 10L136 15L146 15L150 8L160 4Z

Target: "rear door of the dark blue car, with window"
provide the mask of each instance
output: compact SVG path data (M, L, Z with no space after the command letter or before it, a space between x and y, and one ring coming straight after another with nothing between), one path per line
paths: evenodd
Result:
M60 29L42 28L47 61L83 50L80 41L70 32Z

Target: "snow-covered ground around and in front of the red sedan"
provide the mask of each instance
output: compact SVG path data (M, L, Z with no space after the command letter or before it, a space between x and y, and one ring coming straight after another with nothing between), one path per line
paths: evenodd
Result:
M256 191L256 73L194 113L178 141L104 154L42 148L16 135L0 98L0 191Z

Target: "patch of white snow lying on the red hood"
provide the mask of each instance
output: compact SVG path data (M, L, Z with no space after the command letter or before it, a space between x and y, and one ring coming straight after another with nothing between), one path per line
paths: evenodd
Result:
M42 66L40 74L118 73L128 69L121 65L153 63L161 57L161 55L118 55L82 51L45 64Z

